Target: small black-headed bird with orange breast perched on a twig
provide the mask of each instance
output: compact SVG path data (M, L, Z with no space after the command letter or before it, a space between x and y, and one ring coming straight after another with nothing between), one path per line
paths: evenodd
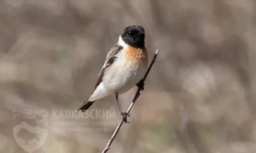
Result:
M115 94L119 111L127 122L129 114L122 112L118 95L137 85L144 89L143 76L148 68L148 51L145 47L145 29L140 25L125 27L118 42L111 47L100 69L94 91L76 111L84 112L95 101Z

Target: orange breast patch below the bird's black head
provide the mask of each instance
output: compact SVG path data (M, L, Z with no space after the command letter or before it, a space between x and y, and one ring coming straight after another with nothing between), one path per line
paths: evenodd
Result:
M134 62L143 62L143 64L148 64L148 52L147 48L134 48L131 46L128 46L127 48L124 48L124 52L127 55L129 59L131 59Z

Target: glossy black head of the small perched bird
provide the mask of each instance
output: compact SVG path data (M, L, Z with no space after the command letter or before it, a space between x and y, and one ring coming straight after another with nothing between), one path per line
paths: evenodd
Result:
M145 31L139 25L125 27L121 34L122 40L136 48L143 48L145 45Z

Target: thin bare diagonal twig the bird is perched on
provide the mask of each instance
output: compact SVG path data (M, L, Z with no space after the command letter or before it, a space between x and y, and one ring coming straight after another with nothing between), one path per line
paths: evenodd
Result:
M150 65L148 66L147 72L145 73L144 77L143 77L143 83L145 82L146 78L148 77L148 73L150 72L150 69L152 68L154 62L156 61L156 57L158 54L159 50L156 50L156 53L152 59L152 61L150 62ZM134 106L136 100L140 97L140 91L142 91L143 89L141 89L141 87L138 87L138 90L134 96L134 98L132 99L131 105L129 106L129 108L127 109L126 113L129 114L131 112L132 107ZM113 133L113 135L111 136L111 138L109 139L108 144L106 145L105 149L102 151L102 153L106 153L109 149L110 149L110 145L113 143L118 131L120 130L120 128L122 127L122 125L124 124L124 118L120 121L120 123L118 124L115 132Z

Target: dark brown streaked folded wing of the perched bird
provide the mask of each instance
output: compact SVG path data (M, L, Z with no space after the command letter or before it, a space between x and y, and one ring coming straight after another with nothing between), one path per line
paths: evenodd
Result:
M98 87L98 85L102 82L102 78L104 76L104 71L106 68L108 68L109 66L111 66L111 64L113 64L113 62L115 61L115 55L122 50L122 46L118 45L118 43L116 43L116 45L114 45L108 52L107 56L106 56L106 60L104 62L104 65L102 66L102 68L100 69L100 73L99 73L99 77L97 80L97 83L95 85L95 89Z

